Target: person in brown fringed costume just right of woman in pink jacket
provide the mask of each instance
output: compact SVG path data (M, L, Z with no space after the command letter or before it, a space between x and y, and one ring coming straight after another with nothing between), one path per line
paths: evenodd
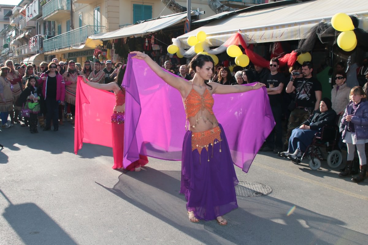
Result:
M77 94L78 75L82 75L82 72L78 71L73 60L69 61L68 71L63 74L63 78L65 81L65 100L70 104L70 112L73 117L72 125L75 122L75 95ZM62 122L62 119L60 119L60 125L63 125Z

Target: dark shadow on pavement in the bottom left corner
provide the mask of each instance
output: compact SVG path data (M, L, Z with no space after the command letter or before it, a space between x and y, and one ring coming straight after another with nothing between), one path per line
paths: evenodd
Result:
M24 244L77 245L74 240L35 203L13 205L1 190L0 192L10 203L5 209L3 216L22 239Z

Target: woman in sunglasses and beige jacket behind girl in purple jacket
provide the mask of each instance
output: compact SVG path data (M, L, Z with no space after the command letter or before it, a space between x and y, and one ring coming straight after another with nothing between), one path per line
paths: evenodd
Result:
M351 88L345 83L346 73L344 71L336 72L334 79L336 84L333 85L333 89L331 90L332 109L340 116L339 122L341 122L345 108L350 102Z

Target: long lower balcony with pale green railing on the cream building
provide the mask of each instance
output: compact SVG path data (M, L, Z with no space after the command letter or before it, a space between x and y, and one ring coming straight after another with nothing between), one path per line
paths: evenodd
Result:
M43 40L43 52L81 45L86 42L89 36L105 32L105 30L105 26L82 26L70 32Z

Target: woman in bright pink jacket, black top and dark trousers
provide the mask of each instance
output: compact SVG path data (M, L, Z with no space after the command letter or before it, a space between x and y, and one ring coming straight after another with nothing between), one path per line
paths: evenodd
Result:
M63 76L56 71L57 64L50 62L49 70L42 73L38 80L39 86L42 85L42 94L45 97L46 126L43 131L51 129L51 119L54 131L59 130L59 103L64 104L65 82Z

